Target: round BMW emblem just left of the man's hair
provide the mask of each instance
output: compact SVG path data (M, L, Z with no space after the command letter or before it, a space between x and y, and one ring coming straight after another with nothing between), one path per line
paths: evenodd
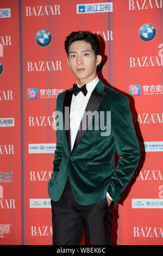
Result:
M52 35L49 31L42 29L36 34L36 42L38 45L45 47L51 44Z

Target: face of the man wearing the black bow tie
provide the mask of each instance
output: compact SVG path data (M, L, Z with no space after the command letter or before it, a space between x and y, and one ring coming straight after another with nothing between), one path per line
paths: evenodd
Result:
M85 41L75 41L69 47L68 65L78 81L89 83L96 78L97 64L101 62L101 56L92 50L91 44Z

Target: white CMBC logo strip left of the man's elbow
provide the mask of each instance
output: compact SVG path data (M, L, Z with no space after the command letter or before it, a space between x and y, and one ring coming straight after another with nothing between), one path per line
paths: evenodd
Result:
M53 153L56 149L56 143L46 143L46 144L28 144L29 154L47 154Z

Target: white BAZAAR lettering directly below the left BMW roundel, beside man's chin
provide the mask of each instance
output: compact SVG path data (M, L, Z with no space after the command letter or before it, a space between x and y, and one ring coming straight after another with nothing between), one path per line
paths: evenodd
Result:
M38 72L38 71L58 71L62 70L61 61L56 60L55 62L27 62L27 71L28 72Z

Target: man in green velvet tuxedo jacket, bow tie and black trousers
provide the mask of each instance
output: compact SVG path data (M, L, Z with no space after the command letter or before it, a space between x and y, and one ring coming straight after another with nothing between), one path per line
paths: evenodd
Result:
M101 204L100 209L103 209L102 204L104 204L106 208L104 216L109 216L108 209L112 210L112 203L118 204L140 159L139 143L127 96L106 87L97 77L99 66L102 65L97 41L96 36L86 32L73 32L65 41L68 65L77 77L78 83L58 95L55 110L57 146L53 174L48 182L49 197L52 199L54 245L79 244L79 240L66 240L67 237L72 237L72 227L66 228L66 225L72 222L74 227L77 218L78 223L82 220L80 224L83 224L87 245L111 244L111 236L107 233L111 233L111 230L105 230L104 234L103 231L99 231L101 228L97 231L103 211L99 210L98 214L97 205L99 209ZM71 120L76 119L71 119L71 111L82 108L86 99L84 94L86 92L87 96L89 95L89 88L92 88L92 91L85 103L85 111L79 121L79 129L72 145L73 133L70 124ZM75 101L79 95L83 98ZM88 120L85 118L86 115L89 116ZM115 150L120 156L116 168ZM67 207L67 212L69 211L67 216L72 209L77 214L74 221L70 221L72 216L70 219L62 218L64 205ZM90 217L95 226L92 231L90 231L92 224L87 223L88 212L89 214L94 212ZM108 220L101 225L105 227L107 223ZM71 229L71 233L68 233L68 229ZM82 228L78 226L78 229L82 232ZM75 228L73 230L73 236L77 237L77 230ZM62 237L65 234L65 237L61 238L59 234L62 234Z

